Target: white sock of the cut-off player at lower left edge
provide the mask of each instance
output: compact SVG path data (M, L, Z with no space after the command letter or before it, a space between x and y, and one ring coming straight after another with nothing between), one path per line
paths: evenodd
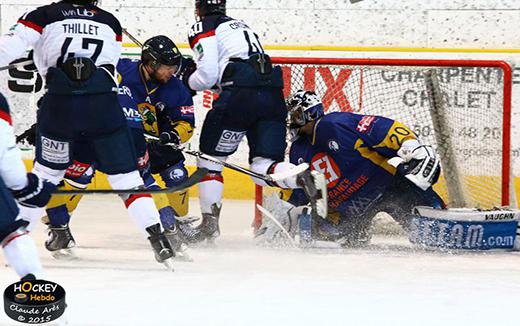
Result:
M20 277L31 273L37 279L43 277L43 269L38 258L33 239L27 234L13 234L4 247L7 263Z

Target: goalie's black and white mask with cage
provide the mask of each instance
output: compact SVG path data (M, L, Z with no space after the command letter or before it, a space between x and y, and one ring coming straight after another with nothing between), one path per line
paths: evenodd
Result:
M289 111L289 128L300 128L325 115L323 104L316 93L299 90L286 101Z

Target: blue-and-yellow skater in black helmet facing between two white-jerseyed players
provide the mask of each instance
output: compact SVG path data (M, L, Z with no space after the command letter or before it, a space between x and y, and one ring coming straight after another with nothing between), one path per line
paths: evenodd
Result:
M166 36L155 36L144 43L142 60L120 59L117 65L119 102L132 132L138 168L148 189L159 188L152 173L159 174L167 187L177 186L188 177L182 153L157 142L150 142L147 149L143 135L145 132L160 136L168 142L175 139L176 144L181 144L193 134L193 100L186 87L172 78L180 60L181 55L173 41ZM89 152L88 148L75 150L74 164L66 173L68 188L84 189L91 182L95 164L91 162ZM182 231L190 235L195 232L188 225L179 225L176 220L176 214L186 215L188 196L188 190L152 195L165 235L178 259L189 259ZM77 195L53 196L47 207L50 238L46 248L58 257L70 255L70 249L75 246L68 223L80 199L81 196Z

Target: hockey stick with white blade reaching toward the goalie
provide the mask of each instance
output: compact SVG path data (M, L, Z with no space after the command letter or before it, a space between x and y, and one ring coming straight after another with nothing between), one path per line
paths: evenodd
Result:
M157 138L155 136L150 136L150 135L146 135L146 134L145 134L145 138L147 138L149 140L152 140L152 141L158 141L159 140L159 138ZM206 161L210 161L210 162L213 162L213 163L216 163L216 164L220 164L222 166L227 167L228 169L231 169L231 170L234 170L234 171L237 171L237 172L240 172L240 173L244 173L244 174L247 174L247 175L249 175L251 177L263 180L263 181L267 182L268 184L273 184L273 183L276 183L276 181L284 180L284 179L287 179L287 178L289 178L291 176L298 175L301 172L303 172L303 171L305 171L305 170L307 170L309 168L308 164L302 163L302 164L297 165L293 169L291 169L289 171L286 171L286 172L273 173L273 174L262 174L262 173L257 173L257 172L251 171L249 169L246 169L244 167L241 167L240 165L236 165L236 164L233 164L233 163L228 163L228 162L225 162L225 161L221 161L218 158L213 157L211 155L204 154L204 153L199 152L199 151L193 151L193 150L187 149L187 148L179 146L179 145L175 145L175 144L165 144L165 145L166 146L170 146L170 147L172 147L172 148L174 148L174 149L176 149L178 151L181 151L183 153L186 153L188 155L195 156L195 157L198 157L200 159L203 159L203 160L206 160Z

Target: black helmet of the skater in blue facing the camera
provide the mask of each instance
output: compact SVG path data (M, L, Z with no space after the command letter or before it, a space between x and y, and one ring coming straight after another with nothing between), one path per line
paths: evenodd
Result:
M144 42L141 60L145 64L151 64L154 69L157 69L161 64L180 66L182 54L170 38L159 35Z

